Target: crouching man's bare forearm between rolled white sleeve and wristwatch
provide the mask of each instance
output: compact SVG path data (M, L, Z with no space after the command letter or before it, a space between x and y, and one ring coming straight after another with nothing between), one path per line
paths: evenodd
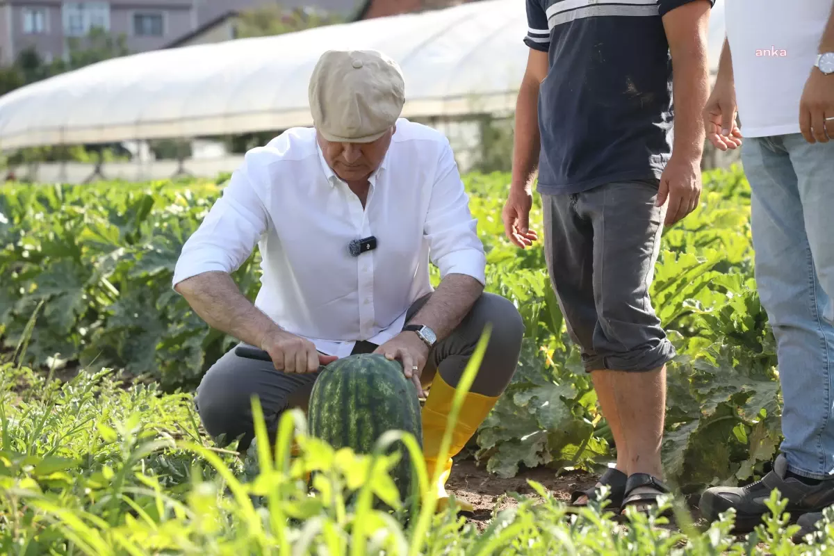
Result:
M458 327L483 291L483 284L469 275L448 274L409 324L431 328L440 341Z

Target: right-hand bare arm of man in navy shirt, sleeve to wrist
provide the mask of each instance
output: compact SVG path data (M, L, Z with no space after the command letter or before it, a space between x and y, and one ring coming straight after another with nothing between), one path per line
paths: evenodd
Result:
M710 96L709 56L707 55L706 24L701 18L696 24L692 19L698 4L676 8L666 18L669 50L672 58L672 95L675 99L675 143L672 156L683 156L700 161L704 152L706 132L702 113ZM703 3L706 5L706 3ZM680 11L680 12L679 12ZM687 13L688 12L688 13ZM686 18L686 19L684 19Z

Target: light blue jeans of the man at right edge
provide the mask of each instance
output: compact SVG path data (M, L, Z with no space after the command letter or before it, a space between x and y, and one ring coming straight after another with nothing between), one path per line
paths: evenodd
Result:
M781 451L809 478L834 475L834 140L745 138L756 286L776 336Z

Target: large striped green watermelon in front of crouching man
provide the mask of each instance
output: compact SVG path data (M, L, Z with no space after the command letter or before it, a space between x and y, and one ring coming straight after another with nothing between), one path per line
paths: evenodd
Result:
M417 388L403 374L399 361L377 353L361 353L329 363L319 373L310 393L307 411L309 434L336 449L372 453L377 439L391 429L414 435L423 447L423 427ZM405 501L417 494L417 478L404 443L395 442L387 453L399 452L391 471Z

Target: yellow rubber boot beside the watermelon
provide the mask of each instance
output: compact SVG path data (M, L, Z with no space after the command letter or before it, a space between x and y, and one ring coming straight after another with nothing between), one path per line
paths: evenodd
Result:
M423 457L425 458L426 471L429 473L429 480L435 473L437 465L442 466L440 479L430 488L436 488L438 494L437 511L442 512L449 504L449 494L446 493L446 481L452 470L452 458L469 442L472 435L478 430L480 423L484 422L490 410L495 406L498 397L490 398L480 393L467 393L464 403L458 413L457 423L452 429L452 442L449 448L449 456L445 462L438 463L437 457L440 452L440 443L443 441L443 433L446 430L446 420L452 409L452 398L455 397L455 388L435 374L429 391L429 397L425 400L422 411L423 420ZM469 503L457 500L461 511L471 512L473 507Z

